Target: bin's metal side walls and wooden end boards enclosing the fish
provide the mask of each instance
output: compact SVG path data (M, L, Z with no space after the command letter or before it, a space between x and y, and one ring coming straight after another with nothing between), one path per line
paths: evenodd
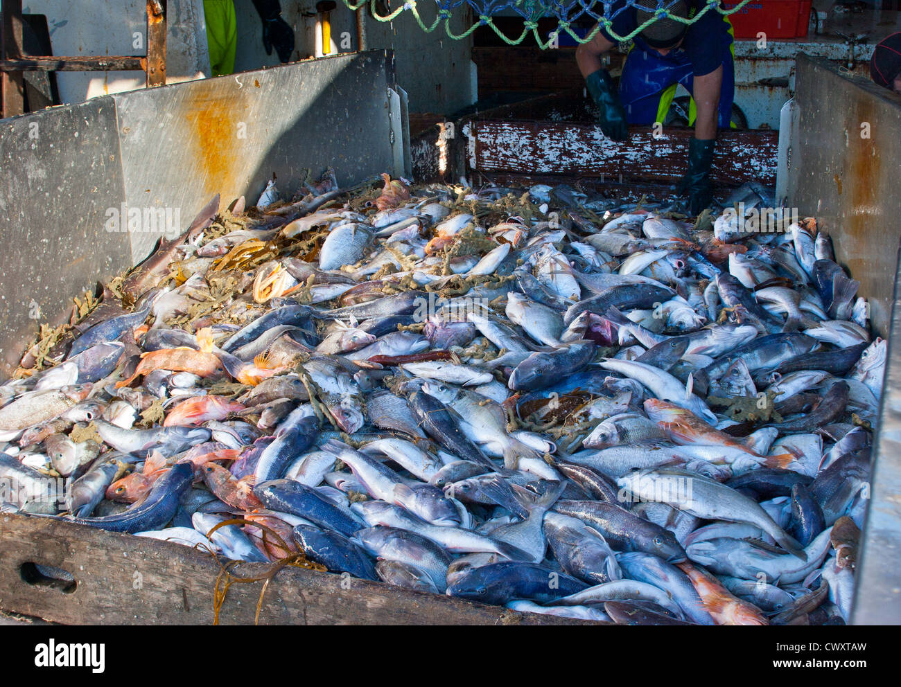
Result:
M551 116L547 107L555 105L543 104L544 118L517 118L515 108L482 113L454 122L455 135L442 124L411 144L401 86L393 55L371 50L106 95L0 122L0 233L7 247L0 378L14 372L40 322L68 321L59 303L140 263L215 194L225 202L255 199L273 173L285 195L326 166L348 184L389 172L487 175L501 183L562 175L614 186L629 185L623 176L640 176L651 187L678 178L690 135L661 141L637 131L638 152L623 154L593 125ZM773 184L785 155L787 206L815 216L833 237L837 261L871 303L874 333L889 341L852 622L895 623L901 619L901 101L801 55L792 111L789 149L774 131L724 132L714 179ZM863 129L869 136L860 135ZM132 209L140 231L123 227ZM232 583L220 562L187 547L0 513L0 610L55 622L592 624L292 566L271 576L260 601L269 568L241 563L232 573L258 579Z

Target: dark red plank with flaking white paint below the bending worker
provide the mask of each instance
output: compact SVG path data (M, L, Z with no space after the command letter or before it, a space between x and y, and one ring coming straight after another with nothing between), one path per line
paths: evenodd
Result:
M463 133L469 168L522 174L618 177L675 182L685 173L691 129L630 127L610 140L594 124L474 121ZM712 178L721 185L776 183L778 131L722 131Z

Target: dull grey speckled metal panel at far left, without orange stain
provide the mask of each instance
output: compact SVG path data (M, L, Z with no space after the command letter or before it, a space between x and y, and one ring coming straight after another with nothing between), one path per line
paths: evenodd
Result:
M128 236L105 231L124 197L111 98L0 121L0 378L41 322L132 264Z

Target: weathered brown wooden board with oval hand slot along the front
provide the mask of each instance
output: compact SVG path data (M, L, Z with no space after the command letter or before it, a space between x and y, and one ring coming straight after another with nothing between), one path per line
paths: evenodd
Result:
M74 591L23 580L23 565L74 575ZM27 571L29 566L25 566ZM236 573L259 576L264 564ZM220 567L177 544L106 532L62 520L0 516L0 609L67 624L210 624ZM254 621L262 583L233 584L220 622ZM268 584L259 623L309 625L560 625L588 621L484 606L389 584L283 568Z

